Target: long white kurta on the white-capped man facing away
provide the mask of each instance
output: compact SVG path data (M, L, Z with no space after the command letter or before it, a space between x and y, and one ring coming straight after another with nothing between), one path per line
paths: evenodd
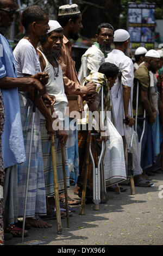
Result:
M123 86L131 87L131 95L133 92L133 80L134 80L134 66L132 60L127 57L120 50L112 50L108 54L108 57L105 58L105 62L110 62L118 66L122 72L121 82L120 78L117 78L114 86L111 88L111 98L112 105L114 108L115 114L115 125L117 131L121 136L124 136L124 126L123 126L123 98L122 98L122 89L121 83ZM130 108L130 107L129 107Z

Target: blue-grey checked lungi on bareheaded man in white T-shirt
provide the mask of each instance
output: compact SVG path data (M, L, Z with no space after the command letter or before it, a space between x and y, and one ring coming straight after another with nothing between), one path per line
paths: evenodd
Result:
M24 147L27 161L18 164L18 216L23 216L24 196L26 192L28 158L30 149L30 133L33 117L33 103L28 97L19 93L21 121L24 137ZM46 215L45 180L40 134L40 112L36 108L34 118L33 144L30 161L29 186L26 216Z

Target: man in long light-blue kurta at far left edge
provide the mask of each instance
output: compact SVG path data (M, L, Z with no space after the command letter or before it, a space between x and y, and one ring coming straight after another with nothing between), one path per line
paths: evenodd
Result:
M15 0L0 1L0 44L2 46L0 56L0 87L5 112L4 132L2 134L0 179L1 200L3 199L4 205L4 228L7 233L10 233L10 238L12 235L21 236L22 233L22 230L14 225L14 223L17 222L18 217L17 164L26 161L18 89L26 91L30 86L39 90L41 93L40 95L43 95L46 92L46 88L43 87L38 80L32 77L17 78L16 62L9 41L7 40L9 28L15 19L16 10L17 5ZM0 206L0 211L0 225L2 226L2 204Z

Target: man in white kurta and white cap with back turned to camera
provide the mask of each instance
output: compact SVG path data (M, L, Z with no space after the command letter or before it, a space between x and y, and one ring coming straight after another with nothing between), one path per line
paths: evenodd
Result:
M114 33L115 49L108 54L105 62L114 63L121 71L121 78L117 78L111 88L112 104L115 113L115 126L124 139L123 105L125 118L129 126L133 126L135 120L131 118L129 111L130 94L133 90L134 67L132 60L125 55L129 46L130 35L125 29L117 29ZM123 88L123 94L121 90ZM122 100L124 99L124 102Z

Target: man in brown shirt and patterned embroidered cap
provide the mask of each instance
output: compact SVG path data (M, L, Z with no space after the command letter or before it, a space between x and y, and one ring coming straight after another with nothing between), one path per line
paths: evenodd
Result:
M75 123L73 129L68 128L68 164L70 172L70 182L73 185L76 184L79 173L79 156L78 156L78 131L77 131L77 120L74 119L72 111L83 111L83 99L84 95L91 95L96 92L95 84L90 82L86 86L81 86L77 77L75 69L75 63L72 59L71 48L72 43L70 39L77 40L79 38L78 33L83 28L82 25L82 14L79 11L77 4L62 5L59 7L58 22L64 29L64 39L62 45L62 56L61 56L61 69L63 73L65 93L68 99L69 113L66 113L65 120L67 125ZM72 96L73 95L73 96ZM73 100L71 100L73 99ZM79 115L80 116L80 115ZM80 118L80 117L78 117ZM74 200L69 201L70 204L75 204Z

